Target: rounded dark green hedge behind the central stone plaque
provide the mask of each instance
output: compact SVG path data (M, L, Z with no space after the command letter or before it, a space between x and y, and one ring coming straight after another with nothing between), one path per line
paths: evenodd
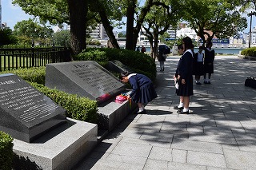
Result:
M136 73L143 73L152 81L156 77L156 65L152 57L145 53L126 49L110 49L110 48L88 48L82 51L75 58L78 61L97 61L101 65L105 65L108 61L118 60L122 64L134 69ZM105 64L104 64L105 63Z

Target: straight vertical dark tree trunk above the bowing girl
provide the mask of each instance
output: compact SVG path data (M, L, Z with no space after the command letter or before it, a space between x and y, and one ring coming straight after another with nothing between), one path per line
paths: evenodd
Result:
M135 3L134 0L129 1L127 8L127 21L126 21L126 49L135 50L134 44L134 13ZM136 39L137 42L137 39Z

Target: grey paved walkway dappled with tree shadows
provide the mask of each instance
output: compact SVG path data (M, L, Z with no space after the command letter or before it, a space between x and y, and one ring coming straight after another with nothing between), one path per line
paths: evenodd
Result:
M188 115L173 109L177 63L171 56L164 73L157 67L158 98L146 114L126 117L75 169L256 169L256 89L244 85L256 61L217 56L211 84L194 84Z

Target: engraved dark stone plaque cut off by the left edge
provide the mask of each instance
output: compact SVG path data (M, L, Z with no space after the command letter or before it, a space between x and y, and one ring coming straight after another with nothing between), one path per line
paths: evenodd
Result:
M66 122L66 110L22 78L0 75L0 130L31 142Z

